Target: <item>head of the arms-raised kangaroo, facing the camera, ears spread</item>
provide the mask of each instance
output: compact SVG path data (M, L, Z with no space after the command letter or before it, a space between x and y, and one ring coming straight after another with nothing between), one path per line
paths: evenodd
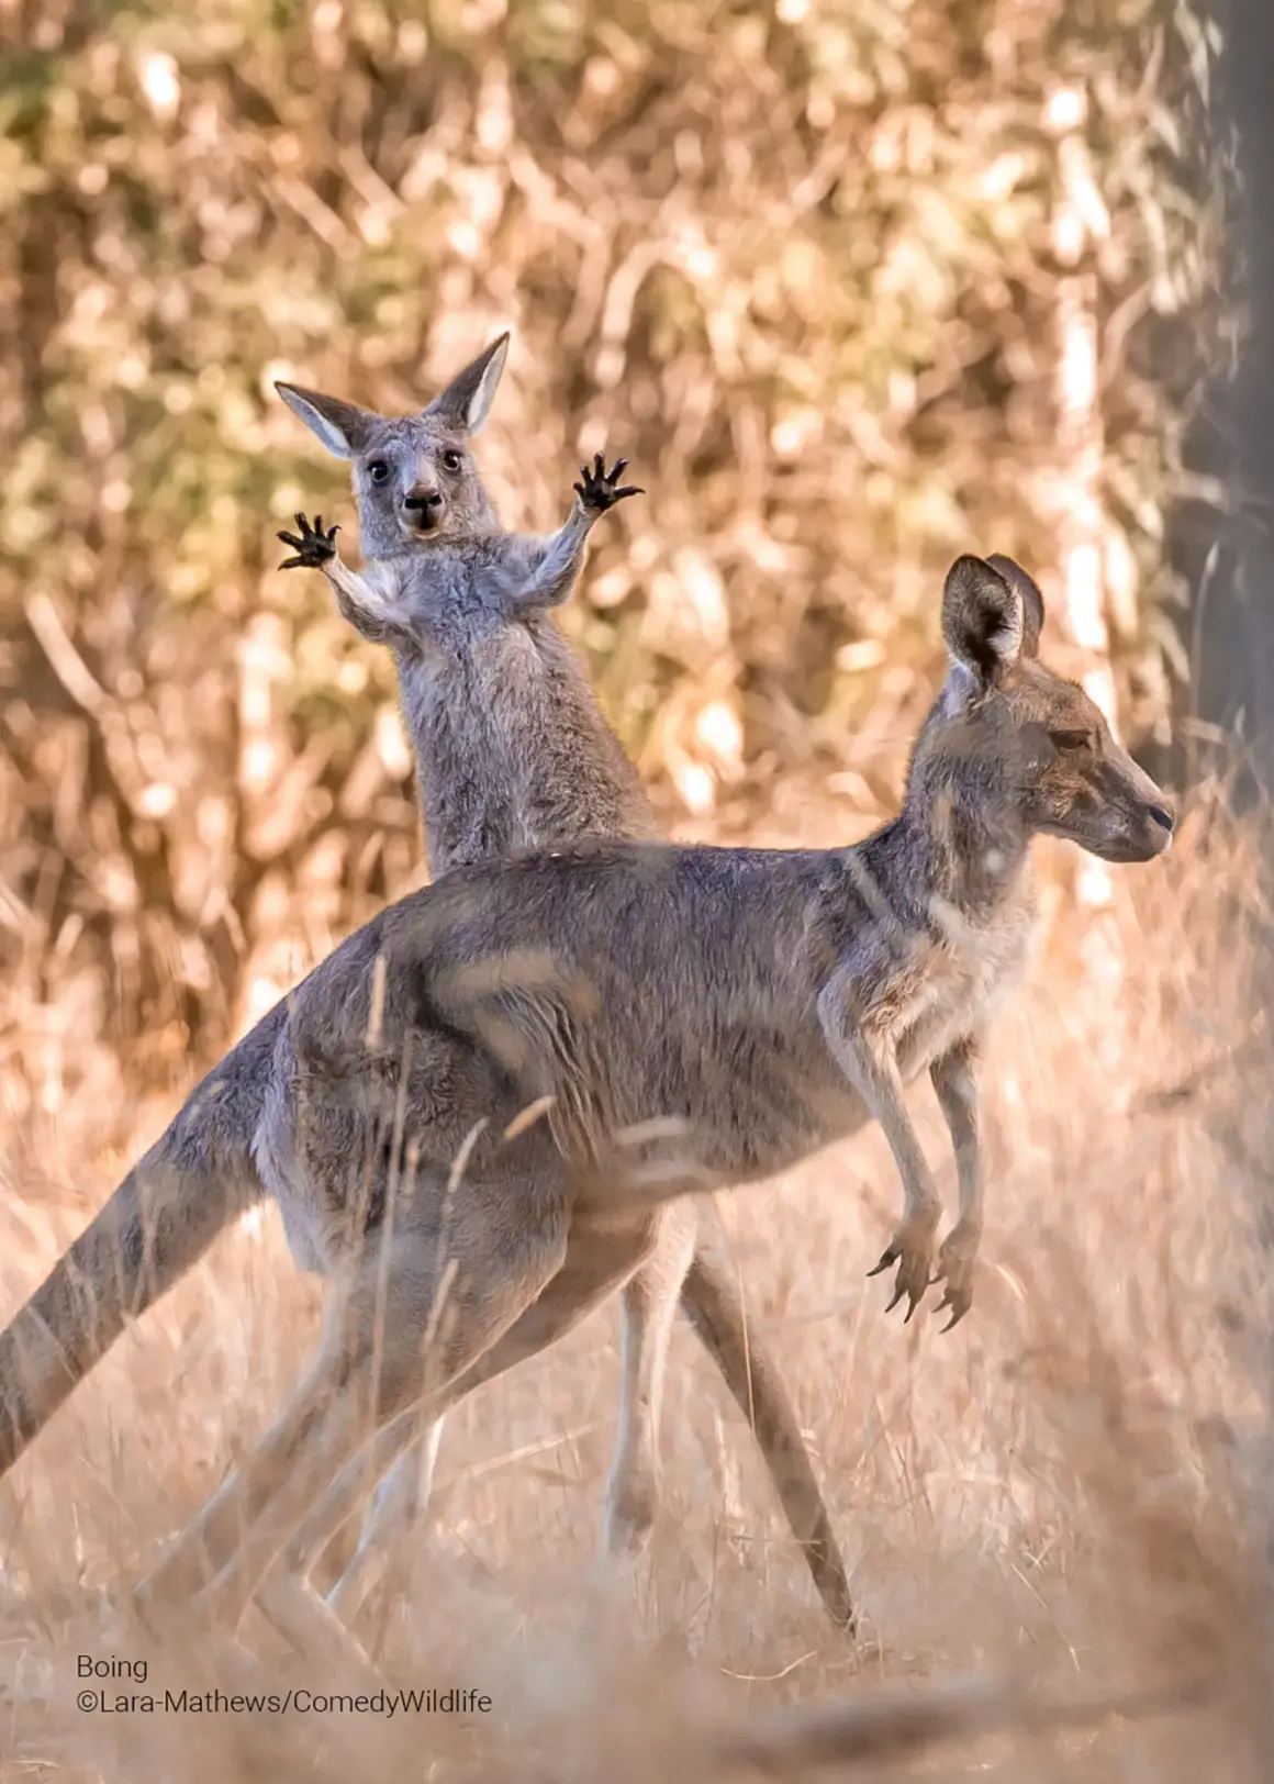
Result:
M491 414L507 355L501 334L416 416L378 416L337 396L275 385L330 453L352 460L364 557L496 532L469 441Z

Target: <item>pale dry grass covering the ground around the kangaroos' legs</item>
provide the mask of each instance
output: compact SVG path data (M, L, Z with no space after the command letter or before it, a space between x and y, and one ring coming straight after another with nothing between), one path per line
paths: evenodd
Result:
M794 817L807 838L835 828L826 805ZM116 1347L0 1493L0 1780L733 1775L724 1761L717 1772L721 1730L789 1700L865 1702L881 1682L914 1688L915 1709L899 1720L885 1702L885 1757L867 1741L855 1777L1260 1775L1265 1581L1249 1507L1269 1359L1253 1342L1267 1326L1249 1227L1265 1074L1237 892L1253 885L1244 838L1201 803L1171 862L1119 876L1106 912L1083 928L1069 906L1053 912L994 1040L987 1263L974 1315L951 1336L924 1315L906 1329L885 1318L885 1290L864 1277L898 1197L880 1135L726 1201L749 1304L853 1557L856 1650L823 1622L685 1333L644 1622L592 1591L616 1395L607 1309L453 1416L437 1525L400 1557L396 1598L362 1631L394 1684L482 1689L489 1714L464 1727L437 1714L77 1711L80 1652L146 1656L161 1693L241 1679L341 1688L255 1625L248 1663L194 1631L186 1650L155 1650L111 1609L307 1354L316 1292L269 1217L227 1238ZM32 1015L9 1065L34 1083L41 1058ZM915 1104L946 1161L935 1110L919 1092ZM0 1215L5 1311L125 1161L95 1147L118 1111L91 1094L59 1104L46 1078L43 1111L39 1094L29 1110ZM146 1111L134 1145L161 1120ZM1006 1682L1019 1709L989 1714L992 1732L896 1752L922 1716L978 1727L972 1698L951 1709L958 1675ZM1030 1695L1213 1677L1220 1704L1013 1727ZM939 1682L946 1695L931 1697ZM803 1766L776 1763L787 1777L810 1775Z

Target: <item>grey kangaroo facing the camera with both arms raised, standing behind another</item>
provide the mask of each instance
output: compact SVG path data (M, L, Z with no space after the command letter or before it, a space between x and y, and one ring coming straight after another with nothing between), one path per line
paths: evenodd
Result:
M277 387L330 451L353 462L366 573L337 557L335 526L325 532L319 517L310 528L300 514L300 532L278 535L296 553L284 567L323 569L344 617L393 649L434 880L514 849L657 835L637 771L551 614L578 578L594 521L641 491L619 487L625 460L607 475L598 455L592 469L580 467L578 500L560 532L525 539L500 530L469 442L491 412L507 343L500 335L423 414L401 419ZM660 1384L680 1297L751 1420L828 1609L848 1623L849 1588L796 1415L746 1327L721 1243L696 1245L698 1227L694 1204L657 1213L649 1258L621 1293L623 1399L605 1491L607 1549L633 1550L649 1532ZM437 1420L425 1420L421 1458L403 1456L378 1488L355 1557L328 1597L334 1609L353 1607L371 1570L384 1568L394 1525L403 1534L416 1516L437 1436Z

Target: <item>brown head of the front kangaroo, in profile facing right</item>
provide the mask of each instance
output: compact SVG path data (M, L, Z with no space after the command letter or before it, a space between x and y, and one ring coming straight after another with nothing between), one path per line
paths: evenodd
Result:
M1044 667L1042 626L1044 598L1012 558L956 558L942 592L951 669L915 742L908 805L1149 862L1172 840L1172 806L1083 689Z

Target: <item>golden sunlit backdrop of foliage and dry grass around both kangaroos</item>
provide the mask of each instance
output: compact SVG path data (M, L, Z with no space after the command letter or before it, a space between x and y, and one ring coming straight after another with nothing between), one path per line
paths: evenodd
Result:
M1254 598L1222 43L1185 0L0 0L0 1317L196 1072L423 880L393 665L277 571L296 508L355 535L277 378L409 412L512 328L478 442L501 519L550 530L582 455L630 460L648 494L598 526L562 626L682 837L846 842L896 810L965 549L1037 574L1044 655L1185 801L1165 865L1040 851L956 1334L864 1279L880 1135L726 1204L856 1650L680 1333L655 1602L614 1654L580 1638L607 1309L451 1420L434 1529L368 1611L387 1673L464 1675L489 1725L89 1727L73 1654L143 1641L103 1588L309 1354L318 1295L269 1215L0 1495L5 1784L707 1777L703 1729L780 1698L1251 1657L1267 1079L1253 801L1228 799ZM191 1643L191 1677L219 1664ZM1019 1729L890 1775L1256 1777L1249 1732L1233 1706Z

